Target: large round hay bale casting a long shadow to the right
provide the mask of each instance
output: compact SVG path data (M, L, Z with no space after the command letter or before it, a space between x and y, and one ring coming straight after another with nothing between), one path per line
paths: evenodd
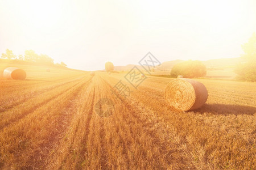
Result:
M200 108L207 101L208 92L203 83L182 78L167 84L164 97L171 107L191 111Z

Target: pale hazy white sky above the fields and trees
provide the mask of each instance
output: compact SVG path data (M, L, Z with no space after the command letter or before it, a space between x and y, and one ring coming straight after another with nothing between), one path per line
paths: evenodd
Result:
M0 54L32 49L71 68L240 57L256 32L256 1L0 0Z

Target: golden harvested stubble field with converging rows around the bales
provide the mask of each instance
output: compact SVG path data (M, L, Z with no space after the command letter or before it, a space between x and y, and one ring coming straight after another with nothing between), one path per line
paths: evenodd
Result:
M0 78L0 169L256 169L256 83L197 79L207 103L178 112L164 101L170 78L135 89L125 74L23 69L26 80Z

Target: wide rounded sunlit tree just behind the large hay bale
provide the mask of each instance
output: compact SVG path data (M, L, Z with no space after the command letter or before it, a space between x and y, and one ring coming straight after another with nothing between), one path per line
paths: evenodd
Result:
M177 77L178 75L183 75L184 78L196 78L200 76L205 76L207 69L201 61L184 61L177 63L171 70L171 76Z

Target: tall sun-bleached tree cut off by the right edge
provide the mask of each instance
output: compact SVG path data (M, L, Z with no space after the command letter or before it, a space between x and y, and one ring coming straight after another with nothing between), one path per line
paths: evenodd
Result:
M248 42L242 45L243 52L242 55L245 58L245 63L240 63L235 72L237 73L237 78L240 80L246 80L249 82L256 82L256 34L250 37Z

